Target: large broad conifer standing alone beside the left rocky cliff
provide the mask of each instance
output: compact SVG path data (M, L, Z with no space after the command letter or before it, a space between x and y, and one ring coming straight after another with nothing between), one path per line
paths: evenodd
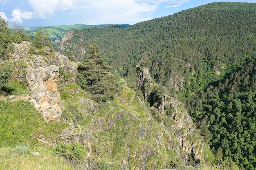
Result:
M92 94L97 102L113 99L121 90L119 79L108 71L110 66L104 62L99 46L89 45L85 61L77 68L78 84Z

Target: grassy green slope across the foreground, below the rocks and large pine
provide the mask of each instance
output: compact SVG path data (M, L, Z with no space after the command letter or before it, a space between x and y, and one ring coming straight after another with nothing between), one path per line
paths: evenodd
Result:
M16 95L27 91L13 87ZM71 113L70 119L79 123L76 132L88 134L87 140L92 147L90 158L100 169L117 169L120 164L132 170L170 168L173 163L180 163L174 151L176 141L166 135L169 132L162 124L152 118L150 112L139 101L136 93L124 86L120 95L113 101L103 104L94 103L95 110L87 104L79 104L82 98L90 95L77 85L62 86L63 116ZM90 111L89 111L90 110ZM72 112L73 111L73 112ZM82 114L82 115L79 115ZM43 117L30 102L0 100L0 169L6 170L74 170L70 162L56 154L55 148L39 143L37 138L44 135L46 139L61 143L64 128L70 126L63 121L43 121ZM78 125L78 124L76 124ZM80 130L79 130L80 129ZM162 136L159 146L156 140ZM174 137L171 135L171 139ZM168 149L168 144L171 149ZM38 152L39 155L33 155ZM111 163L109 163L111 162ZM179 166L180 169L184 166ZM199 169L211 170L204 166ZM227 169L227 168L226 168Z

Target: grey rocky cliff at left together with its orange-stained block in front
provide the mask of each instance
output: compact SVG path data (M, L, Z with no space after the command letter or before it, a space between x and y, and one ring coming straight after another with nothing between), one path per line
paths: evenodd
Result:
M76 66L64 55L50 52L48 48L43 55L31 54L30 46L31 42L13 44L14 53L10 55L10 60L16 64L15 76L20 81L24 81L24 77L27 79L31 91L30 101L42 112L46 121L60 119L62 110L58 85L76 82ZM26 68L23 75L21 65ZM59 77L60 70L62 75L68 75L65 81L63 76Z

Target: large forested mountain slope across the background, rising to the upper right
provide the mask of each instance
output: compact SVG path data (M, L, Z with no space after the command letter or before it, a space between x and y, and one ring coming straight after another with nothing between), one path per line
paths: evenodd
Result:
M137 64L146 64L150 74L170 92L172 86L182 86L183 79L177 75L189 80L195 71L197 81L208 78L200 79L199 87L190 88L196 92L217 78L216 71L224 75L232 64L243 62L245 55L254 51L255 11L255 3L216 2L125 29L76 30L63 39L58 51L71 49L81 60L87 44L95 42L113 70L129 75Z

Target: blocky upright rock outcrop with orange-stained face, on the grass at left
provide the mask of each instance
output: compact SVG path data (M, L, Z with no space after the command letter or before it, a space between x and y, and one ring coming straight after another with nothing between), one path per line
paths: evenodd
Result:
M42 112L46 121L61 117L61 97L57 87L58 73L59 68L54 65L28 68L27 81L31 91L30 101L36 109Z

